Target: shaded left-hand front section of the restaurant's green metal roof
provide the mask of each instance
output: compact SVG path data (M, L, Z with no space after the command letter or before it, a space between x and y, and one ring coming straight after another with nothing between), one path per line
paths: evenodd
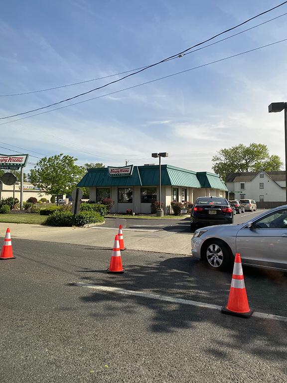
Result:
M79 187L91 187L91 186L141 186L141 179L138 171L138 167L134 167L133 174L125 177L111 177L108 172L108 168L93 168L88 169L88 173L79 182Z

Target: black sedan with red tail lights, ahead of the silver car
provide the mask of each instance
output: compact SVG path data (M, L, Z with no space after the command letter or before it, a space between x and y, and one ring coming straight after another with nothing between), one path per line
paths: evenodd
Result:
M191 209L190 229L197 227L233 223L233 209L222 197L198 197Z

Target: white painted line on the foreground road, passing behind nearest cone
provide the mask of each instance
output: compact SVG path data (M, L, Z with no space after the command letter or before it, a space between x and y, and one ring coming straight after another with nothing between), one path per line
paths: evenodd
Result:
M82 283L82 282L75 283L75 286L87 287L89 289L94 289L94 290L99 290L99 291L106 291L106 292L110 292L110 293L117 293L117 294L124 294L124 295L136 295L138 297L149 298L149 299L157 299L159 301L165 301L165 302L171 302L171 303L180 303L182 305L204 307L206 309L213 309L213 310L219 310L219 311L221 310L221 306L212 305L210 303L196 302L196 301L190 301L190 300L180 299L180 298L165 297L165 296L157 295L157 294L143 293L141 291L133 291L133 290L120 289L118 287L92 285L92 284L89 284L89 283ZM276 320L276 321L287 322L287 317L281 317L280 315L273 315L273 314L265 314L265 313L254 312L253 316L254 317L258 317L258 318L273 319L273 320Z

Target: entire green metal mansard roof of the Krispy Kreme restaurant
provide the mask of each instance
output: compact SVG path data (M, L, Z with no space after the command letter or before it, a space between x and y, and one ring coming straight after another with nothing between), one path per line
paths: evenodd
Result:
M134 166L131 176L111 177L108 168L88 169L79 182L79 187L131 187L157 186L159 184L158 165ZM193 172L170 165L161 165L161 185L183 186L186 188L211 188L227 190L219 176L207 172Z

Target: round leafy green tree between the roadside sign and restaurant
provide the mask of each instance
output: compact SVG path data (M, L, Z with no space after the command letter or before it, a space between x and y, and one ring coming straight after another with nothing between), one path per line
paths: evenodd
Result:
M86 173L85 167L75 165L76 161L77 158L63 153L44 157L31 170L30 181L46 193L57 195L58 199L61 194L71 194Z

